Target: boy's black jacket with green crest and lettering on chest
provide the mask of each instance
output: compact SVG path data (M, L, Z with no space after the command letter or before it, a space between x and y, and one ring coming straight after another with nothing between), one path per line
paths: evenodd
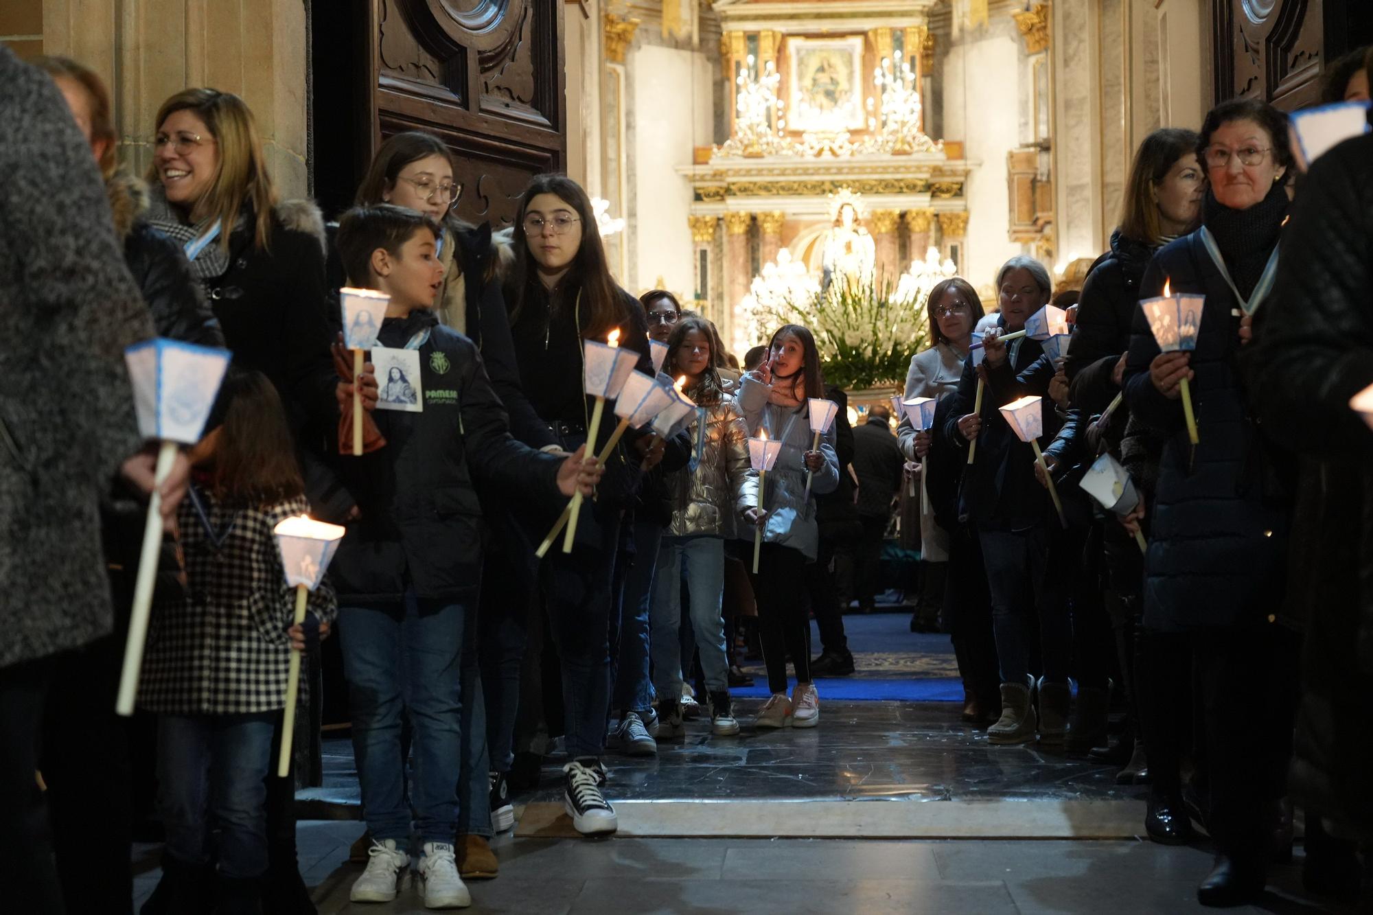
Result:
M472 341L438 326L432 312L386 319L378 341L402 348L426 327L430 335L419 348L423 412L375 411L386 447L335 462L361 511L330 566L345 606L398 600L406 585L422 599L475 599L482 567L476 475L512 500L534 500L555 512L564 504L560 459L511 437Z

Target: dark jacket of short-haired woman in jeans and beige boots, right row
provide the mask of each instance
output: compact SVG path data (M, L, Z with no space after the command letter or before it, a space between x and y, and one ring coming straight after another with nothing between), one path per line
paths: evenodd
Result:
M997 327L1005 319L997 316ZM1008 346L1013 345L1008 343ZM1043 356L1043 348L1028 337L1020 339L1015 359L1008 359L987 371L987 387L982 397L982 436L972 467L964 470L958 514L979 528L998 530L1027 530L1037 525L1057 525L1053 500L1034 475L1034 451L1020 441L1001 415L1000 408L1028 394L1043 397L1043 436L1041 448L1053 441L1061 420L1049 400L1053 365ZM962 367L962 379L953 394L950 415L945 423L946 440L968 458L968 440L958 431L958 419L972 412L978 400L978 372L972 357Z

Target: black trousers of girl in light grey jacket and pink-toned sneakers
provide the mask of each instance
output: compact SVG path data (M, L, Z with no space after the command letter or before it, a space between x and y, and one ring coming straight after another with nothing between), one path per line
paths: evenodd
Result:
M799 550L765 543L754 576L758 635L768 668L768 688L787 691L787 654L798 683L810 683L810 603L806 600L806 556Z

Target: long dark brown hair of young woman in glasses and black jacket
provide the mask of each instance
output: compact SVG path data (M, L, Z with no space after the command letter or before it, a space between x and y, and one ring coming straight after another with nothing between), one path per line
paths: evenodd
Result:
M592 202L586 196L582 185L566 174L535 174L530 179L520 196L519 210L515 213L515 306L511 316L518 317L530 291L540 283L538 264L529 251L529 239L524 235L524 212L530 201L540 194L552 194L567 203L581 220L582 243L577 249L577 256L567 268L563 278L566 289L579 289L582 315L582 339L604 338L612 328L619 327L626 320L625 304L621 298L619 286L610 275L610 265L605 261L605 246L600 240L600 229L596 224L596 213Z

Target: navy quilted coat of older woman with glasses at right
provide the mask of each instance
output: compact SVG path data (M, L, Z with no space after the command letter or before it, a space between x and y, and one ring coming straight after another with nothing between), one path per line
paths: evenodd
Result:
M1141 298L1160 295L1164 279L1174 293L1205 295L1190 361L1200 444L1193 453L1181 398L1164 397L1149 379L1159 346L1138 309L1126 403L1134 419L1166 437L1145 558L1145 624L1163 631L1259 624L1282 596L1288 503L1276 474L1281 459L1262 438L1236 371L1238 304L1199 232L1159 250Z

